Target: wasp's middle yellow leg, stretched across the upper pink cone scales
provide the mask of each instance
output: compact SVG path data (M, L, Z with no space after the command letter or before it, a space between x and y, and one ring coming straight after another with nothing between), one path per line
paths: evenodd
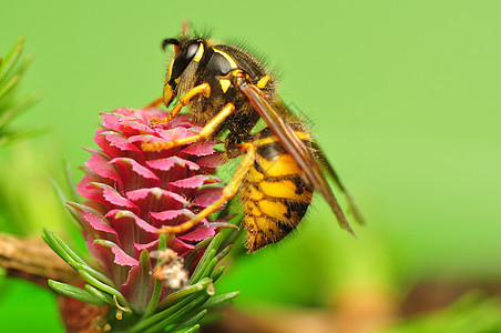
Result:
M235 105L233 103L227 103L223 110L219 111L209 122L197 134L172 140L172 141L159 141L159 142L143 142L143 151L159 151L164 149L170 149L177 145L183 145L193 141L198 141L211 137L214 131L223 123L223 121L235 111Z

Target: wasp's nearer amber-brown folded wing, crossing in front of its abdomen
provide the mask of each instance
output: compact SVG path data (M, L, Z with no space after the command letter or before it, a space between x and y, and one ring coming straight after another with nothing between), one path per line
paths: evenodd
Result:
M284 149L293 155L294 160L304 170L309 185L318 191L330 205L339 224L351 234L355 234L310 150L272 107L259 88L245 81L239 83L238 88L247 97L253 108L259 113L272 132L278 138Z

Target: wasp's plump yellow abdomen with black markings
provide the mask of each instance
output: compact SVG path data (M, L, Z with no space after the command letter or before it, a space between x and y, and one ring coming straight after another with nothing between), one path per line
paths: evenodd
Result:
M260 141L241 191L249 252L285 238L300 222L313 196L303 170L278 141Z

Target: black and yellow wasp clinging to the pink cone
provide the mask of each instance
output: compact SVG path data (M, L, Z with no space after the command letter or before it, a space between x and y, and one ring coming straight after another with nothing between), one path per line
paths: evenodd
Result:
M224 135L227 158L243 155L243 160L219 200L190 221L163 226L160 232L185 232L239 194L247 248L254 252L293 231L310 205L313 192L317 191L341 228L354 233L327 178L346 196L355 218L361 222L351 196L308 128L278 97L276 81L260 61L236 46L202 37L188 38L186 33L165 39L162 46L164 50L174 47L162 100L167 108L174 99L177 104L166 118L154 122L166 123L190 105L203 129L185 139L145 142L143 150L160 151ZM254 133L260 119L266 127Z

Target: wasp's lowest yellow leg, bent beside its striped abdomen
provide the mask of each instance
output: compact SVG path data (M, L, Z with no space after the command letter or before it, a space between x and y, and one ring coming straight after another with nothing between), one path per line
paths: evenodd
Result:
M156 233L180 233L190 230L191 228L198 224L203 219L207 218L209 214L214 213L222 204L224 204L227 200L233 199L247 174L250 167L254 164L256 160L256 148L254 143L242 143L242 151L245 153L244 160L241 165L236 170L232 180L226 184L223 189L223 194L218 200L212 203L209 206L202 210L198 214L196 214L190 221L183 222L180 225L165 225L162 229L157 230Z

